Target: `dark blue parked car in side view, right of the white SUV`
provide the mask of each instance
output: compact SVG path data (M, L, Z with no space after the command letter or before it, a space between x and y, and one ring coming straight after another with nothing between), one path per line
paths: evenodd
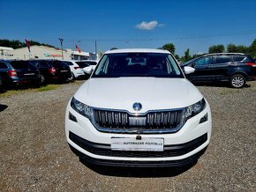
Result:
M195 69L189 78L192 82L229 82L232 87L243 87L246 81L256 79L256 63L245 54L208 54L183 64Z

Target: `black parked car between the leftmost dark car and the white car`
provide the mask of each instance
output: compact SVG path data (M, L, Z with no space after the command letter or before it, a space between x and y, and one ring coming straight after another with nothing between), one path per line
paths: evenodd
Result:
M59 60L44 60L51 66L50 73L52 74L52 81L56 83L63 83L72 79L71 68L64 62Z

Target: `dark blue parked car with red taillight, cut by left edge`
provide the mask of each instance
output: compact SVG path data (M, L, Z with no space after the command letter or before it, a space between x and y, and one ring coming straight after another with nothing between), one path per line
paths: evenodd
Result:
M0 75L3 78L4 88L14 85L40 85L41 74L38 68L28 61L0 61Z

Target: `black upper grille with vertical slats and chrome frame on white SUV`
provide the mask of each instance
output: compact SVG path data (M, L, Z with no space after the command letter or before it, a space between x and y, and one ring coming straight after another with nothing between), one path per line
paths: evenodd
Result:
M183 123L183 114L184 109L149 111L146 114L94 109L94 124L96 128L106 132L175 132Z

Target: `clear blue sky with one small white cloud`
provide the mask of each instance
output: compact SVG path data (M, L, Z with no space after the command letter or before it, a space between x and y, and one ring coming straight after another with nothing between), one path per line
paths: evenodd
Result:
M0 0L0 39L24 39L94 52L160 48L178 55L215 44L249 46L256 39L255 0Z

